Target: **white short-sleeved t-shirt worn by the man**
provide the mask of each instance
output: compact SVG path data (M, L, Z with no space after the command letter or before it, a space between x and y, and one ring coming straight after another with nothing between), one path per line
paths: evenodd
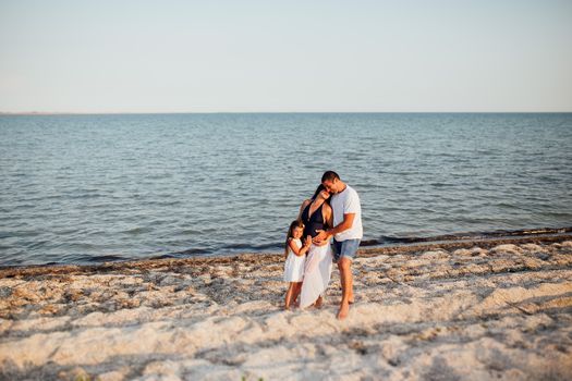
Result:
M346 184L343 192L331 196L330 205L333 209L333 226L338 226L343 221L343 214L355 213L352 228L336 234L336 241L362 239L364 229L362 228L362 206L357 192Z

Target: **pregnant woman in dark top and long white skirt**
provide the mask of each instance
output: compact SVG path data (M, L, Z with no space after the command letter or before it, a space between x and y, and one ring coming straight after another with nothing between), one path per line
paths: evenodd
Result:
M333 213L330 207L330 194L319 185L312 199L300 207L299 219L304 223L304 236L315 237L318 230L331 228ZM300 307L321 306L322 296L331 276L332 254L329 242L316 246L312 244L304 267L304 281L300 295Z

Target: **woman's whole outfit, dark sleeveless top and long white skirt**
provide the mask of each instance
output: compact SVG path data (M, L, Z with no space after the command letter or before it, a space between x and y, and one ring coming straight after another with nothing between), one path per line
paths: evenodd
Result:
M312 216L309 216L309 204L302 212L302 221L305 224L304 237L318 235L317 230L325 230L326 224L321 214L321 205ZM302 283L302 292L300 294L300 307L308 307L313 305L317 298L324 296L328 283L330 283L332 267L331 246L329 244L324 246L312 245L309 247L308 257L304 267L304 282Z

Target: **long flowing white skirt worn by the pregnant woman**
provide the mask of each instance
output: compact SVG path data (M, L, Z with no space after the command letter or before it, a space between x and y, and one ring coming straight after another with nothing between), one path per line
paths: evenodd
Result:
M330 244L324 246L312 245L304 268L304 282L300 294L300 307L313 305L318 296L324 296L330 283L332 254Z

